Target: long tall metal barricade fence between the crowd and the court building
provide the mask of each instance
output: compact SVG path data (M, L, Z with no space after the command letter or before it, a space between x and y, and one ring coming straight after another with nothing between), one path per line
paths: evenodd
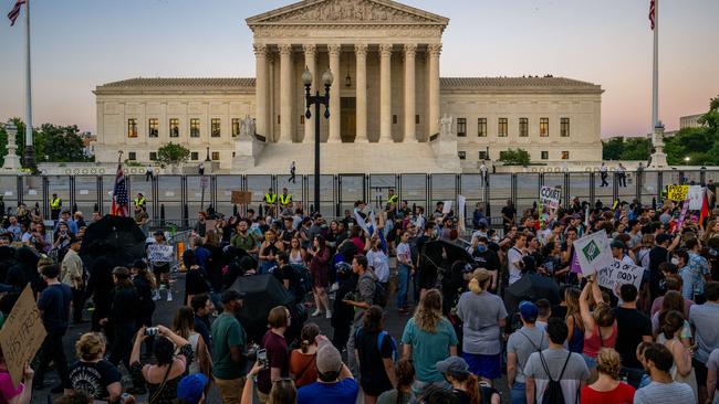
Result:
M508 200L521 214L538 201L542 185L561 188L562 205L569 205L574 196L593 204L600 201L612 205L616 200L638 200L652 204L653 201L660 202L661 192L668 184L718 181L719 169L628 171L626 187L614 172L609 173L608 187L601 187L596 171L531 171L490 173L487 177L487 181L483 181L479 173L323 174L320 212L326 217L342 217L355 201L365 201L379 209L387 202L388 190L394 189L399 200L406 200L409 208L423 206L426 215L431 214L437 202L450 200L456 203L457 195L461 194L467 199L465 217L470 227L471 213L477 203L483 205L491 224L499 226L500 212ZM194 224L197 212L210 208L225 215L246 214L249 209L259 213L270 188L277 193L286 188L305 212L314 209L314 201L311 201L314 194L313 176L298 176L296 182L290 182L289 176L280 174L155 176L149 181L145 176L128 174L126 179L131 201L138 192L145 196L150 227L174 225L188 228ZM19 203L38 205L46 217L50 216L50 198L58 194L63 200L63 209L81 211L85 217L90 217L93 211L101 214L110 211L114 181L114 176L0 176L0 194L6 208ZM252 192L250 204L232 204L232 191Z

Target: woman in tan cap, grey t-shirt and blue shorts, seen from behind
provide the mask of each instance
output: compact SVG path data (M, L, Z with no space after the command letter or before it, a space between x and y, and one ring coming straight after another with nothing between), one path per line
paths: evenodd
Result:
M488 383L501 378L501 328L507 319L502 299L488 291L491 283L489 270L476 269L469 291L457 304L457 316L462 320L462 358L469 370Z

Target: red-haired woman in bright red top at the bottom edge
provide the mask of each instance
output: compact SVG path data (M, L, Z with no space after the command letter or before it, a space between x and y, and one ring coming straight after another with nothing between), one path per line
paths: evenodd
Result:
M634 387L619 381L622 360L612 348L602 348L596 355L600 379L582 387L582 404L632 403Z

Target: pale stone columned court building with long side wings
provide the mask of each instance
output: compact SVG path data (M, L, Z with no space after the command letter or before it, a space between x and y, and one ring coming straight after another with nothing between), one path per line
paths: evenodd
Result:
M517 148L548 164L601 161L601 86L441 77L448 23L390 0L305 0L251 17L254 78L97 86L96 159L115 161L124 150L147 162L171 141L191 150L190 161L209 157L228 172L286 173L295 161L309 173L315 128L304 117L306 66L313 93L324 92L327 68L334 75L330 118L321 119L323 173L461 172Z

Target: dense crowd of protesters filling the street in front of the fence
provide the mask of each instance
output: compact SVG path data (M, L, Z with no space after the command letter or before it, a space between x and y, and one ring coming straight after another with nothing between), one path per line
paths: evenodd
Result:
M0 355L1 398L29 402L52 362L60 384L50 392L62 393L60 402L199 403L210 389L233 404L480 404L499 403L500 392L511 403L715 402L717 210L680 219L670 201L574 199L520 213L508 201L503 228L478 204L470 230L441 202L425 214L396 196L383 209L357 201L332 221L299 204L277 212L199 212L181 256L184 283L174 285L181 297L173 297L170 262L98 258L85 267L83 234L98 213L85 223L61 212L52 232L38 209L6 215L0 310L7 317L30 285L48 337L17 387ZM615 259L644 268L640 287L608 290L573 269L574 243L598 231ZM434 242L441 256L459 247L465 257L440 268L427 253ZM167 243L163 231L147 241ZM253 334L238 317L246 295L232 286L264 274L316 322L278 306ZM514 283L538 276L560 288L559 300L508 304ZM183 299L171 325L154 321L163 298ZM86 321L88 307L91 331L69 360L69 328ZM387 330L388 315L405 323L402 334Z

